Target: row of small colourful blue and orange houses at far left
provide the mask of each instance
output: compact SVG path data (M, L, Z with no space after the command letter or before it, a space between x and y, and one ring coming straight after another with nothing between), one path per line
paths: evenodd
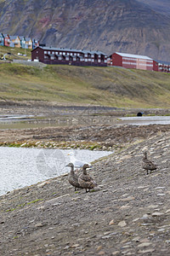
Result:
M25 38L23 36L9 36L8 34L0 33L0 45L23 49L34 49L39 46L39 42L33 38Z

